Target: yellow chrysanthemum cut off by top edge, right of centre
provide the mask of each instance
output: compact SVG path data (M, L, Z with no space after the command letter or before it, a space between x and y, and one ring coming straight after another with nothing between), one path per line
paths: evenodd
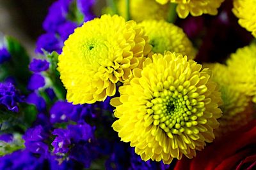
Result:
M180 18L186 18L189 13L192 16L200 16L204 13L217 15L218 8L224 0L156 0L160 4L168 2L177 4L177 14Z

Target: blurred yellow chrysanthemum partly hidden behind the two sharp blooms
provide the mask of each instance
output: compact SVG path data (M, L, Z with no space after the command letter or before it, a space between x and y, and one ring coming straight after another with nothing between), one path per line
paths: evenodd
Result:
M195 58L196 50L180 27L164 20L145 20L138 25L144 28L152 52L163 54L170 51L188 55L189 59Z

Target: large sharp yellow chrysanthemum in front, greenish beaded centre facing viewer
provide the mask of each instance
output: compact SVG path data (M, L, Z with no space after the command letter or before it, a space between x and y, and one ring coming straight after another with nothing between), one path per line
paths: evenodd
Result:
M143 160L170 164L183 154L191 158L214 139L220 92L208 69L186 56L152 55L119 92L111 100L118 118L112 127Z

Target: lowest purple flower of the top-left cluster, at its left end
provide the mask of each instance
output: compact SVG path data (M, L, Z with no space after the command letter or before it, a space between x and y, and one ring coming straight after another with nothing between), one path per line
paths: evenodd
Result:
M56 37L56 34L49 32L42 34L36 41L36 52L43 53L42 49L47 52L56 51L61 53L63 42Z

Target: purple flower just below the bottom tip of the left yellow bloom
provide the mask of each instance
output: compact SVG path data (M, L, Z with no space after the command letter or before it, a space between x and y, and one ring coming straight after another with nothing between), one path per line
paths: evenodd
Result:
M67 101L57 101L50 110L51 123L68 122L68 120L78 121L90 115L90 104L73 105Z

